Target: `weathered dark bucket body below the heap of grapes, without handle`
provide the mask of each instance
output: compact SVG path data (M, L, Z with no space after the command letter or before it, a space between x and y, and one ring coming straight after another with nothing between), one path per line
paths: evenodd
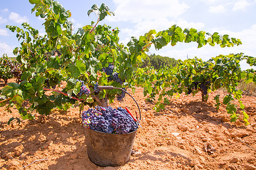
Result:
M85 129L87 154L91 162L101 167L125 164L133 150L137 130L128 134L108 134Z

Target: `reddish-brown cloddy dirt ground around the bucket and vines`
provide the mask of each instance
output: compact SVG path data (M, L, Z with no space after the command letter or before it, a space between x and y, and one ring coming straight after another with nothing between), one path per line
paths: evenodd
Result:
M90 162L79 108L55 110L49 116L36 113L35 120L7 125L19 114L2 107L0 169L256 169L256 97L242 97L250 122L244 126L242 119L229 121L224 105L216 111L216 94L223 99L225 92L212 92L207 103L201 102L201 94L181 94L156 113L138 88L133 96L141 108L143 129L137 130L130 160L119 167ZM110 106L138 111L128 95Z

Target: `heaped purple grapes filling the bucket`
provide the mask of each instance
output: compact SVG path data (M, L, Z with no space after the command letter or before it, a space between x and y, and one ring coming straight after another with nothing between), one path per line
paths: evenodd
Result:
M95 107L82 112L85 128L109 134L127 134L138 129L137 123L123 108Z

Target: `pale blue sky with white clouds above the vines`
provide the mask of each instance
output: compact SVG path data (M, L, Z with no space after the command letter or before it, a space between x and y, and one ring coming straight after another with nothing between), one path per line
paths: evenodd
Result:
M168 45L156 51L151 47L150 53L161 56L187 59L195 56L205 61L219 54L245 53L256 57L256 0L60 0L67 10L72 13L71 22L77 28L97 21L95 15L87 15L87 11L94 4L105 3L114 11L115 16L108 16L100 24L108 24L112 28L120 29L120 42L127 44L131 36L139 37L150 29L162 31L176 24L181 28L196 28L198 31L210 33L218 32L221 35L241 39L242 45L232 48L218 46L203 46L197 49L197 44L180 43L176 46ZM21 27L28 22L32 27L44 34L43 19L31 14L31 5L28 0L9 0L0 2L0 56L7 53L12 57L12 51L19 42L15 33L5 28L6 25ZM242 62L242 69L248 66ZM255 69L255 67L254 67Z

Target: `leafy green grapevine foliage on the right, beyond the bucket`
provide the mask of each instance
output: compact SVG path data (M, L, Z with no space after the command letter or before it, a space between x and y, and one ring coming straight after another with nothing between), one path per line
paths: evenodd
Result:
M224 97L223 104L226 105L226 111L230 113L231 121L236 121L238 118L237 105L233 103L234 99L237 99L244 116L243 121L247 125L249 124L248 116L241 101L242 91L238 89L238 85L241 79L247 83L256 83L256 72L253 69L242 71L240 67L240 61L248 58L251 61L254 60L253 57L244 56L243 53L220 55L206 62L195 57L178 61L176 67L163 67L155 72L140 69L135 81L144 86L145 96L150 94L148 101L156 100L156 95L159 94L155 106L156 111L163 109L167 104L167 96L172 97L182 92L187 95L195 95L201 91L202 101L206 102L208 92L224 87L229 94ZM148 80L151 77L154 79ZM149 86L151 86L152 92L148 92ZM160 102L162 100L164 100L164 104ZM215 106L218 109L221 104L220 96L216 95L214 100L216 100Z

